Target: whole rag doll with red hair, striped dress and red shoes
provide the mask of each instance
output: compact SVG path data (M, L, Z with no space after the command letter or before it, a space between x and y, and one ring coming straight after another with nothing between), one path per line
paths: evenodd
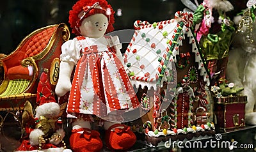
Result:
M91 128L97 116L104 119L108 148L129 149L136 136L120 123L123 118L119 112L134 109L140 103L124 70L118 37L104 35L113 31L114 11L106 0L79 0L69 12L69 23L77 37L61 47L60 77L55 91L58 96L70 91L70 147L73 151L102 148L100 133Z

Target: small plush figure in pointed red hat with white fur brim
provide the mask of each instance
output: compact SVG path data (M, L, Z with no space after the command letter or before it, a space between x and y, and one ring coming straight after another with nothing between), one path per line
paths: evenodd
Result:
M35 116L31 103L26 101L24 104L22 128L24 128L25 133L22 137L22 143L15 151L70 152L71 150L67 149L66 143L63 141L65 132L56 124L67 103L62 105L56 103L47 80L46 69L40 77L37 91L36 103L38 106L35 110Z

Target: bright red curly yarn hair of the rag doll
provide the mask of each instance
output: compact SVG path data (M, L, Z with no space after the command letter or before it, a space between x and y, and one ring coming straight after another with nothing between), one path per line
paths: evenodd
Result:
M72 33L76 34L77 36L81 35L79 33L79 27L81 26L81 22L83 22L83 20L79 20L79 17L78 17L79 13L81 13L81 11L83 11L83 9L86 8L87 6L93 6L93 4L97 2L99 3L99 6L102 9L93 8L92 10L88 11L88 13L86 13L83 19L95 13L103 13L104 15L106 15L106 17L108 17L108 21L109 21L106 33L109 33L114 30L113 24L115 22L115 19L114 19L115 11L113 11L113 8L111 7L110 4L108 4L106 0L79 0L77 1L76 4L74 4L74 6L72 6L72 10L69 11L68 22L70 24L70 27L72 28Z

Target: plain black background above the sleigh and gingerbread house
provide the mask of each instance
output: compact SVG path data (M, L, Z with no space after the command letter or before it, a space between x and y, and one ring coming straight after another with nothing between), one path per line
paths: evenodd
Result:
M191 0L193 1L193 0ZM235 15L246 8L245 0L230 0ZM75 0L8 0L0 5L0 53L10 54L21 40L36 29L51 24L66 23L68 11ZM122 16L115 13L115 30L133 29L136 20L150 23L173 19L176 11L186 8L179 0L108 0L113 10L122 9ZM202 3L202 0L198 0ZM71 38L74 35L71 35Z

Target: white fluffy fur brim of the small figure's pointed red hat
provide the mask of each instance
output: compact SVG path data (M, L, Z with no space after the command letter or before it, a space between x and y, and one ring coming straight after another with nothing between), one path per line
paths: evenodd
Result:
M60 105L56 102L44 103L36 108L36 118L45 116L46 118L54 118L60 113Z

